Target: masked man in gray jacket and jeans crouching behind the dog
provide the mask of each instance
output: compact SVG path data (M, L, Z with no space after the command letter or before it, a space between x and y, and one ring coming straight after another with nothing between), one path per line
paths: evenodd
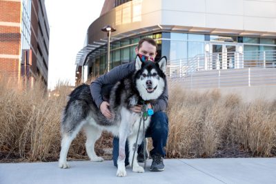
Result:
M139 54L142 61L154 61L157 55L157 43L155 40L150 38L141 39L135 48L135 53ZM109 103L103 100L101 95L101 90L104 86L115 85L117 81L120 81L128 74L135 72L135 61L126 63L124 65L119 65L116 68L110 70L110 72L99 76L98 79L93 81L90 85L90 91L92 98L97 104L101 113L106 116L107 119L112 118L112 114L108 109ZM157 99L154 104L150 104L154 114L151 117L150 126L146 130L146 137L152 137L153 149L150 151L150 156L152 157L152 165L150 171L163 171L164 163L163 158L166 154L164 147L166 146L166 141L168 139L168 117L164 112L168 105L168 87L163 94ZM131 108L133 112L140 113L141 106L137 105ZM142 144L143 145L143 144ZM141 149L141 146L139 147ZM117 167L117 159L119 156L119 139L113 139L113 162ZM139 154L141 156L141 154ZM138 157L139 157L138 156ZM126 158L128 158L128 144L126 144ZM128 165L128 159L125 160L125 164Z

